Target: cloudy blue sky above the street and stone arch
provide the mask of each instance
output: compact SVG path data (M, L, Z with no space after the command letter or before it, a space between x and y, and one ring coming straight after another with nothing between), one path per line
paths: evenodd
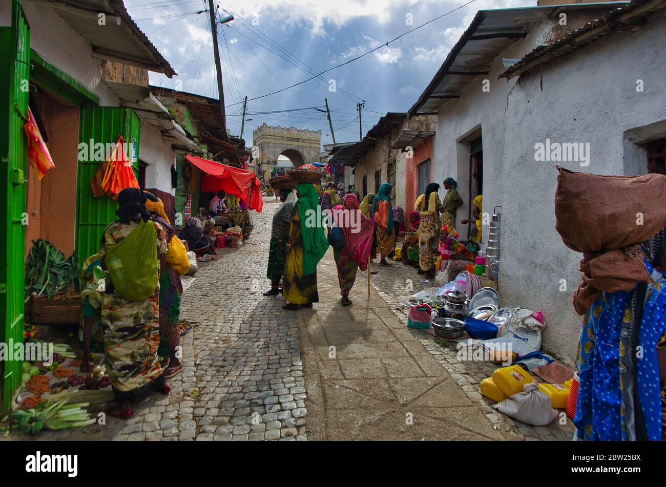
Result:
M350 61L470 0L225 0L216 1L227 124L240 134L244 96L281 90ZM477 11L535 5L535 0L472 0L362 59L278 94L248 102L244 138L270 125L322 131L331 142L326 114L314 108L328 98L336 142L358 140L356 103L364 134L388 111L414 104ZM178 73L151 73L151 83L217 98L207 0L125 0L130 15ZM334 84L334 92L330 86ZM300 110L300 108L308 108ZM297 110L255 114L276 110Z

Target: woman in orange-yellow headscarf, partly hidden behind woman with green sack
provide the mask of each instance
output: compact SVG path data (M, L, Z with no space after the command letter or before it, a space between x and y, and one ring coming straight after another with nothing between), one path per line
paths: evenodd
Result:
M151 212L151 220L164 228L166 244L171 244L175 236L173 227L164 212L164 204L153 193L144 192L147 201L146 209ZM182 364L178 359L180 349L180 296L182 281L180 274L166 261L166 254L159 254L160 260L160 294L159 294L159 335L160 344L157 348L158 357L164 357L163 367L165 379L182 372Z

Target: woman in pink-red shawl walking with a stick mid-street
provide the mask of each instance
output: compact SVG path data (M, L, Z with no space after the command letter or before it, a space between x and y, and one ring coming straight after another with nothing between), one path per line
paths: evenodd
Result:
M364 271L368 268L374 229L372 220L361 214L358 209L358 199L352 193L346 194L342 205L334 208L333 219L344 235L344 247L340 250L334 247L333 258L338 267L341 303L343 306L348 306L352 304L349 299L349 291L352 290L356 280L356 271L358 269Z

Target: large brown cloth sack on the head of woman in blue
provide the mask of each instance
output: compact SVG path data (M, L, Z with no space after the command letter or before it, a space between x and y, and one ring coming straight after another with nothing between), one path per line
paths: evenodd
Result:
M555 229L567 247L583 253L583 283L573 296L582 315L601 291L631 291L637 282L651 281L637 244L666 227L666 176L557 169Z

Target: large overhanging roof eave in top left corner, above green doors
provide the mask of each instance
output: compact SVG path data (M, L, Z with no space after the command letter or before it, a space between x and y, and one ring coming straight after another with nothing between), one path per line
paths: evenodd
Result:
M50 7L93 48L93 55L164 73L171 78L176 71L157 51L148 37L132 20L121 0L32 0ZM99 14L105 14L105 25L99 25Z

